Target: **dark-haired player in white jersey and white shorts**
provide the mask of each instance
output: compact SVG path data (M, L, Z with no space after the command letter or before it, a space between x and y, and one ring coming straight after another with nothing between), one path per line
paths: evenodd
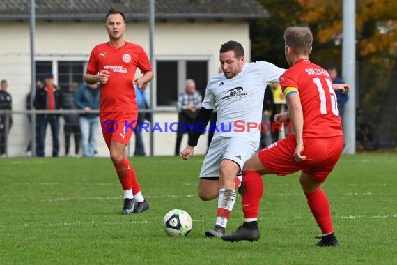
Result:
M219 61L223 73L208 82L201 110L194 124L207 124L212 110L217 108L217 130L203 161L198 185L199 197L218 197L217 221L208 237L224 235L228 218L235 203L236 176L244 162L259 147L260 130L248 128L248 123L260 124L263 96L267 84L279 82L285 69L272 63L245 63L244 48L235 41L221 45ZM189 143L181 152L184 160L194 153L201 132L194 130Z

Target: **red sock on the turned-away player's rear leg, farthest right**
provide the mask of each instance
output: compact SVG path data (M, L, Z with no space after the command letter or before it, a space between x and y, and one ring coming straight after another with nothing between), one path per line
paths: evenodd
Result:
M322 188L318 188L315 192L305 193L304 195L306 195L307 204L309 204L311 213L313 213L322 234L334 232L329 202Z

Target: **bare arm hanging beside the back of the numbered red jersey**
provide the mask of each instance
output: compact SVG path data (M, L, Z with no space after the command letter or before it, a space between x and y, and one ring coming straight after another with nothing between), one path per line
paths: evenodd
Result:
M293 123L293 129L297 146L295 148L294 157L295 161L300 162L306 159L306 156L302 156L301 153L304 150L303 146L303 111L300 103L300 97L298 93L291 93L286 97L288 105L288 114L290 121Z

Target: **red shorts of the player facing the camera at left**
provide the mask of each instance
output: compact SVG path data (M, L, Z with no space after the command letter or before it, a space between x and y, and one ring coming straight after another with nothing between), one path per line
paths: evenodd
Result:
M107 148L111 141L128 145L137 126L138 113L136 112L104 112L100 114L102 135Z

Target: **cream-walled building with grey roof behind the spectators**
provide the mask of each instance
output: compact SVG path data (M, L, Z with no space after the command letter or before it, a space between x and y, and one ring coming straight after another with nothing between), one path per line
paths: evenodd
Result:
M36 3L36 79L45 72L54 73L56 84L68 89L71 82L83 82L91 49L108 40L104 17L111 7L123 10L127 17L125 39L150 50L147 0L48 0ZM29 142L26 94L31 87L29 1L0 2L0 79L7 79L13 96L14 124L8 137L8 156L21 156ZM208 79L219 69L219 47L237 40L250 60L249 22L268 17L255 0L157 0L155 1L154 61L156 72L150 89L155 110L176 110L178 94L185 79L196 80L203 94ZM155 114L154 120L178 121L178 114ZM60 156L63 156L61 119ZM146 153L150 153L150 135L144 134ZM154 155L171 156L176 142L173 132L154 134ZM98 153L108 151L98 136ZM205 153L207 135L201 137L196 153ZM187 135L182 147L187 143ZM46 136L46 155L51 154L51 133ZM133 153L132 137L130 154Z

